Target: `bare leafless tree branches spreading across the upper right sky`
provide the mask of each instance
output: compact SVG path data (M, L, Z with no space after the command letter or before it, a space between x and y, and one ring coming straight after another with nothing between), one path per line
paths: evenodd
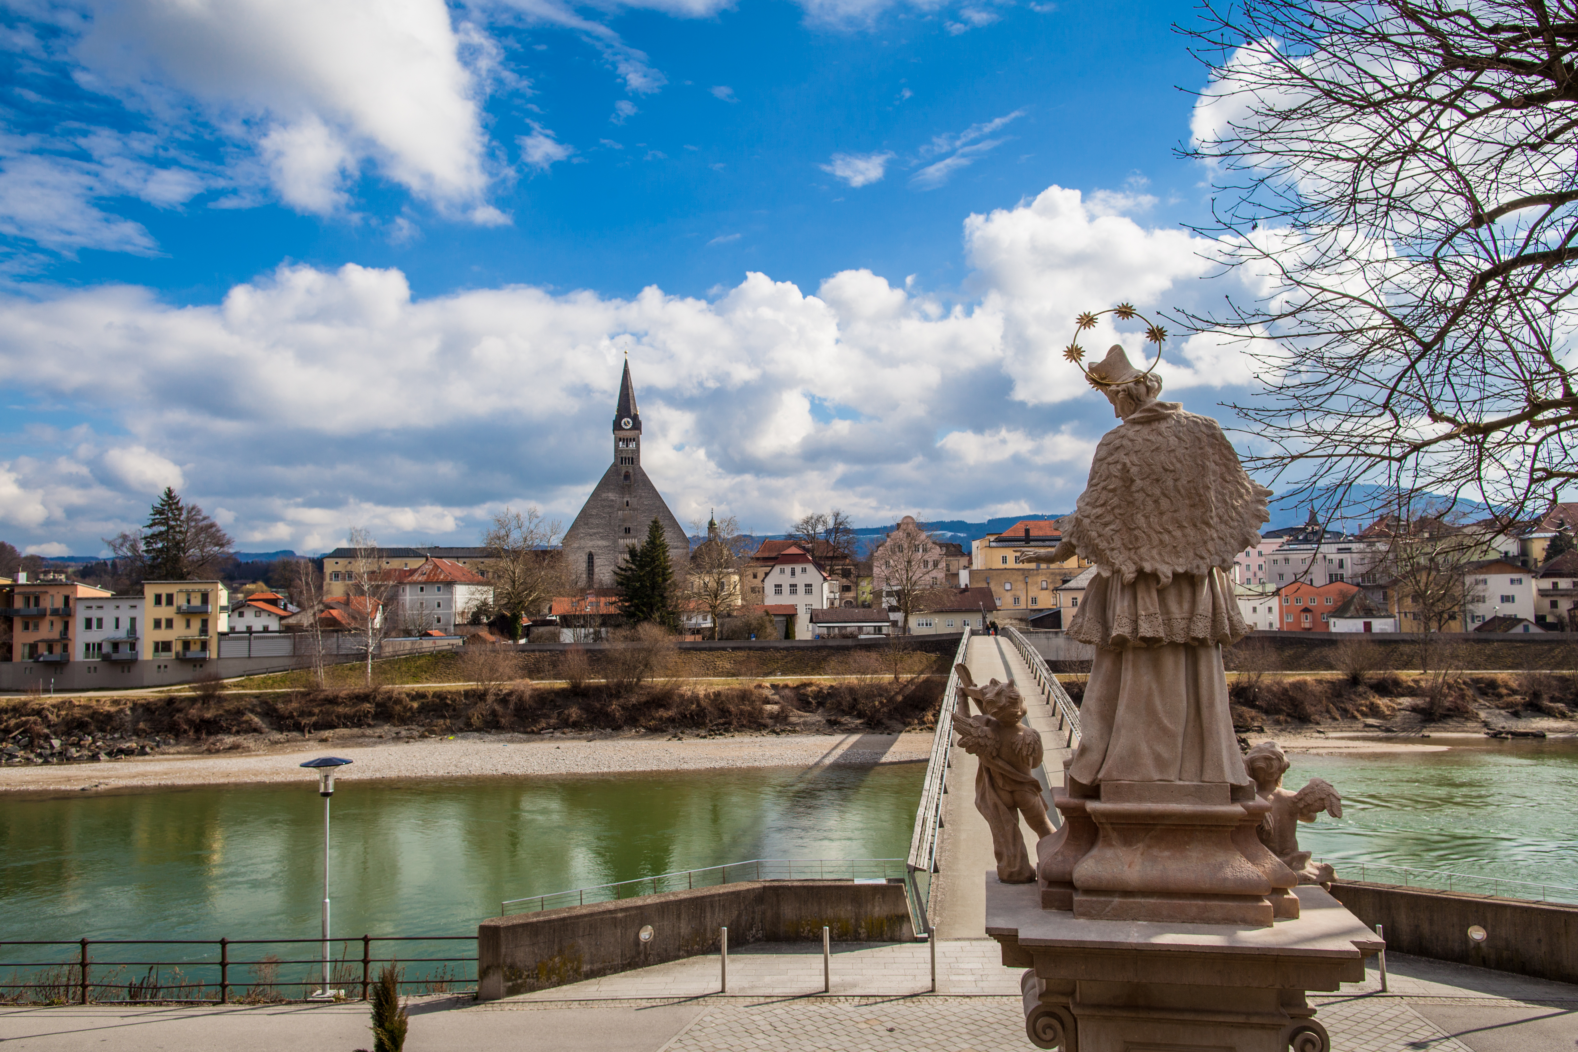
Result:
M1264 297L1253 457L1326 511L1450 494L1501 524L1578 479L1578 17L1546 0L1206 0L1185 153Z

